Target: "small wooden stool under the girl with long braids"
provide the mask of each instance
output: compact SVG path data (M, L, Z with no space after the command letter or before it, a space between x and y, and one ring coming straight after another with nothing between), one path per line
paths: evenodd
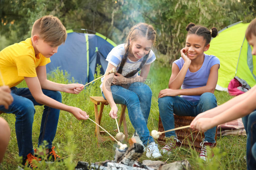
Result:
M94 103L95 122L100 125L104 105L108 105L108 102L102 96L90 96L90 100ZM100 105L99 111L98 111L98 105ZM127 131L127 124L126 124L126 119L125 119L125 109L126 109L126 105L122 104L121 115L118 120L118 126L120 129L122 122L123 122L125 140L127 140L128 131ZM111 136L102 136L100 134L99 128L100 127L98 125L96 125L95 133L98 138L98 142L103 142L106 140L114 141L114 139ZM98 145L99 145L99 143L98 143Z

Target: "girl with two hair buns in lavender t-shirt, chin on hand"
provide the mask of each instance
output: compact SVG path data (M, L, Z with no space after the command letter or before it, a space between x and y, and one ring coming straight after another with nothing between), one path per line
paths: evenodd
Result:
M218 34L217 28L208 30L206 27L190 23L186 30L186 46L180 50L181 58L172 64L172 72L168 89L159 93L158 107L164 130L174 128L174 115L196 116L206 110L217 107L214 90L218 81L220 61L213 55L204 52L210 47L211 37ZM181 89L180 89L181 88ZM180 95L180 96L179 96ZM199 157L207 160L205 146L213 147L216 127L205 132L205 140L201 143ZM176 139L176 143L166 144L161 149L170 153L176 145L180 145L175 131L166 132L166 137Z

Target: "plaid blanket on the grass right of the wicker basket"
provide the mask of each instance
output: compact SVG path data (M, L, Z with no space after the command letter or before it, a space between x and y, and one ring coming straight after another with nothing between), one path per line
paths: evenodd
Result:
M246 135L242 118L218 125L217 135L218 136Z

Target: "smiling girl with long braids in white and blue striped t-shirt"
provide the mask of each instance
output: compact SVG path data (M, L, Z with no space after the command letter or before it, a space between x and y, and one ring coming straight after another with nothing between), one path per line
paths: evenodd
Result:
M125 104L136 132L135 137L138 134L137 139L146 146L146 156L159 158L161 154L147 128L152 91L144 84L150 64L156 59L151 50L155 39L156 31L153 26L146 23L133 26L127 35L126 43L114 47L108 54L106 72L113 68L118 72L104 76L101 89L103 97L111 107L110 117L117 117L116 103Z

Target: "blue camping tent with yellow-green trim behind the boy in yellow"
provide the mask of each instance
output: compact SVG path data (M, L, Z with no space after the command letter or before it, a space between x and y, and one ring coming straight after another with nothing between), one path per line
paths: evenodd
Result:
M78 83L86 84L94 79L97 64L102 65L101 74L104 74L107 69L105 59L116 44L97 32L88 34L74 30L67 30L65 44L60 45L58 52L51 56L51 63L46 65L46 71L49 73L59 67L70 74L70 80L74 77Z

